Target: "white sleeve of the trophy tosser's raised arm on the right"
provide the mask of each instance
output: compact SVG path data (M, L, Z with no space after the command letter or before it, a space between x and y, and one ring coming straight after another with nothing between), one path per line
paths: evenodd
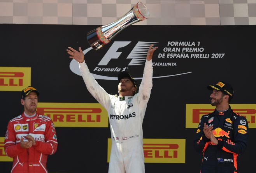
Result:
M153 87L153 63L152 60L146 60L142 81L139 87L138 101L140 108L147 106L151 89Z

